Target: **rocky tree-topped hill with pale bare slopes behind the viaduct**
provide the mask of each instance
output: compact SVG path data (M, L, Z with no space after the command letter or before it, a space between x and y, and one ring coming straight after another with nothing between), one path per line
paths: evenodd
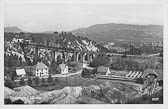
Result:
M15 38L15 34L4 33L5 41ZM104 51L105 47L97 44L95 41L89 40L87 37L75 36L71 33L24 33L17 36L21 39L30 39L34 43L48 45L53 47L71 48L85 51Z

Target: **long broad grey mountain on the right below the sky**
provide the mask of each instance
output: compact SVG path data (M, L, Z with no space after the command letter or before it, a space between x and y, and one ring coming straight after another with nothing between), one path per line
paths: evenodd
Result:
M163 41L163 26L160 25L96 24L73 30L72 33L98 42Z

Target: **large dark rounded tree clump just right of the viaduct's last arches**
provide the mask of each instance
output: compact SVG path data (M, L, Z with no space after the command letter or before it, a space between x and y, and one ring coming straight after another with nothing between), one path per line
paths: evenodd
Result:
M110 64L110 58L105 53L101 53L101 54L98 54L98 56L93 59L93 61L90 63L90 66L98 67L98 66L107 65L107 64Z

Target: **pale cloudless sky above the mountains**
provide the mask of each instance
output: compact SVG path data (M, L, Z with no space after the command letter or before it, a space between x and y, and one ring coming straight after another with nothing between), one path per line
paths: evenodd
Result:
M104 23L163 25L160 4L11 1L4 5L5 27L17 26L29 32L71 31Z

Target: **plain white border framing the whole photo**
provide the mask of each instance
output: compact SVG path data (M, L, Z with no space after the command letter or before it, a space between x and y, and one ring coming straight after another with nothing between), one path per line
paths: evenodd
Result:
M79 104L79 105L67 105L67 104L56 104L56 105L4 105L4 7L5 3L87 3L87 4L160 4L164 7L164 104ZM0 109L30 109L30 108L41 108L41 109L126 109L126 108L160 108L160 109L168 109L168 1L167 0L0 0Z

